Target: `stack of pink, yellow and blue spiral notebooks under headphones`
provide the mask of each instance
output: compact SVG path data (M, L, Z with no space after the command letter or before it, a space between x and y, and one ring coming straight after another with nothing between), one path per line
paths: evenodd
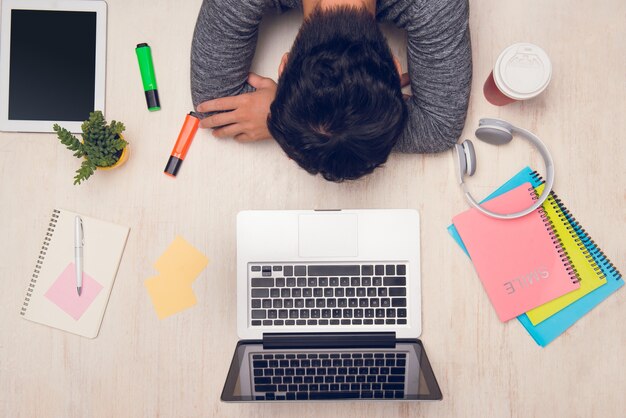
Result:
M526 167L482 203L511 213L542 191L541 177ZM540 209L515 220L469 209L453 218L448 232L472 259L500 320L517 317L541 346L624 285L554 192Z

